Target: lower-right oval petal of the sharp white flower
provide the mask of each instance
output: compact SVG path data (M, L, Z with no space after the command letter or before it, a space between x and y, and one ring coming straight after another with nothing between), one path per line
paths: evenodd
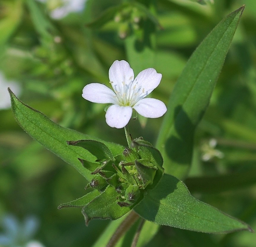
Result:
M146 118L159 118L167 111L165 104L161 100L155 98L143 98L132 108Z

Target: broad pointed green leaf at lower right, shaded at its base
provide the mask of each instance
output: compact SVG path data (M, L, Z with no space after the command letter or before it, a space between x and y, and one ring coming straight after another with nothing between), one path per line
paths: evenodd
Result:
M154 189L147 191L134 210L142 218L157 224L197 232L253 232L244 222L195 199L184 183L168 174L163 175Z

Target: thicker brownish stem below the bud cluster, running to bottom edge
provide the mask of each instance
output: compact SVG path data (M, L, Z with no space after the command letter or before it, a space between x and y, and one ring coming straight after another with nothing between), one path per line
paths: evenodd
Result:
M106 247L113 247L117 243L117 241L122 237L122 235L133 225L133 223L140 216L135 213L135 211L131 211L128 216L124 219L124 221L119 225L111 239L108 241Z

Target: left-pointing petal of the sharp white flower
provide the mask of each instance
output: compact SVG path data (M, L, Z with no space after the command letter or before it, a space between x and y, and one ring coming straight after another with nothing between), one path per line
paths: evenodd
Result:
M116 104L116 94L107 86L100 83L90 83L83 88L82 97L94 103Z

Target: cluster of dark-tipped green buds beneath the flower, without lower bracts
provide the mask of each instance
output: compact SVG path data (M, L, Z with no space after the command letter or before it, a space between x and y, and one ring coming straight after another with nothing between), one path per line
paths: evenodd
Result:
M105 144L95 140L68 141L70 145L85 148L97 157L95 162L79 159L94 178L86 188L99 192L108 186L115 188L120 207L134 207L142 198L145 189L153 188L163 175L163 158L149 142L138 138L131 148L113 157Z

